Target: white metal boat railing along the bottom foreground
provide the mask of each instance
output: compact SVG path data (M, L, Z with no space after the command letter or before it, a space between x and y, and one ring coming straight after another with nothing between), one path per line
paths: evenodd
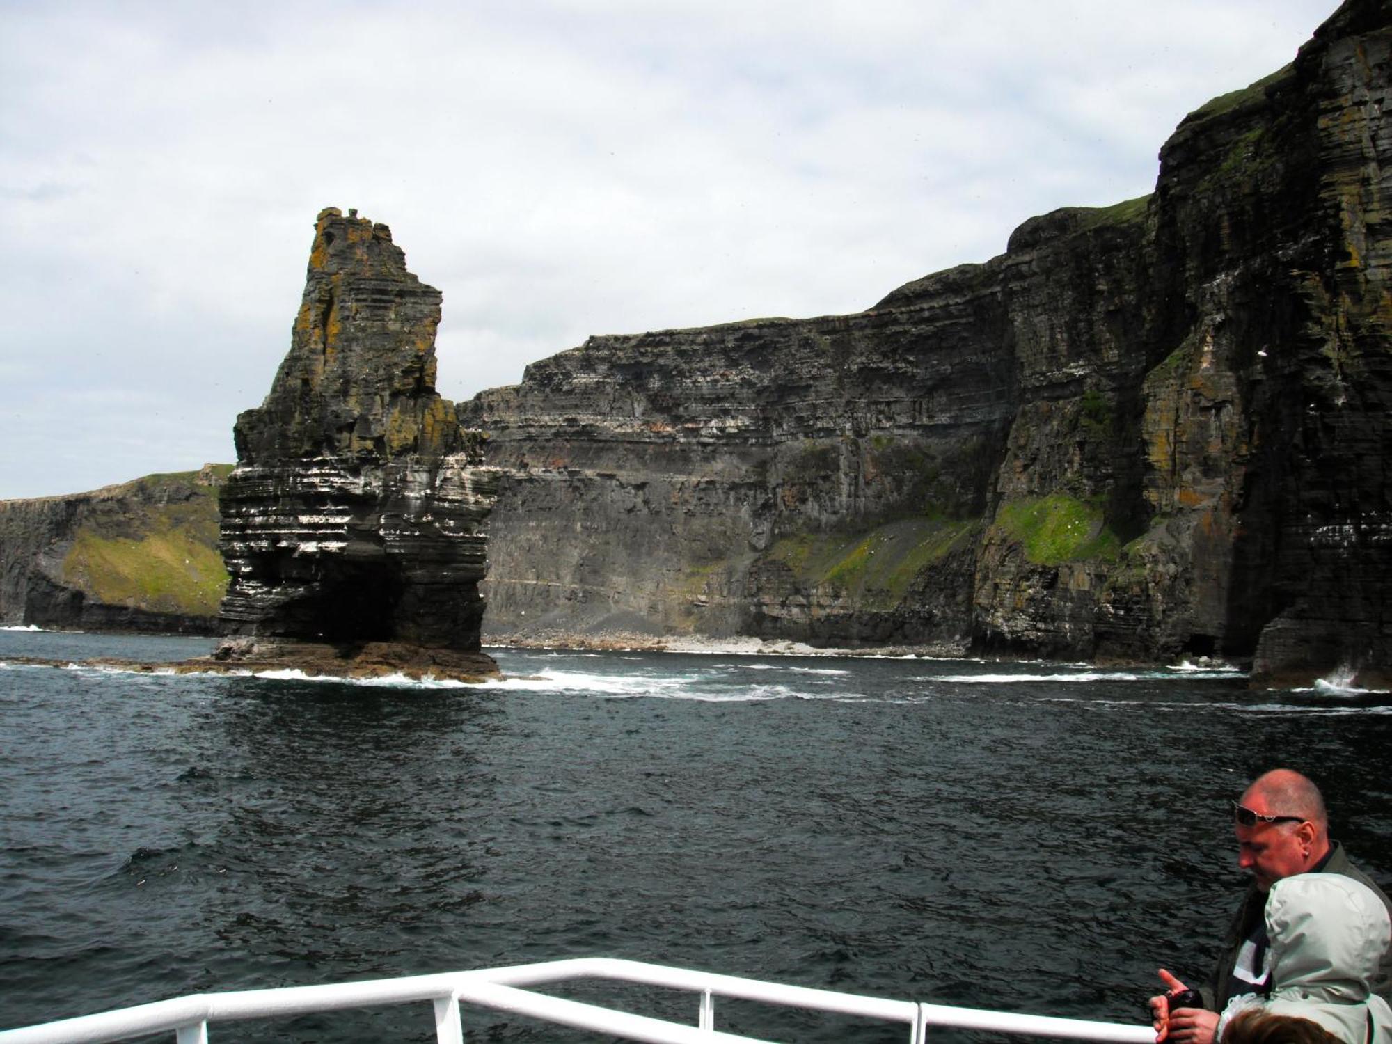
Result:
M567 1001L523 988L574 979L608 979L696 992L700 997L696 1026L683 1026L614 1008ZM625 1040L651 1041L651 1044L718 1044L721 1041L749 1044L753 1041L752 1037L715 1030L715 997L901 1022L909 1027L910 1044L923 1044L928 1026L952 1026L1036 1037L1116 1041L1116 1044L1150 1044L1155 1038L1150 1026L889 1001L834 990L812 990L802 986L764 983L757 979L647 965L639 960L578 958L548 960L540 965L512 965L509 967L402 979L372 979L330 986L192 994L100 1015L84 1015L40 1026L3 1030L0 1031L0 1044L102 1044L103 1041L118 1041L168 1030L174 1030L177 1034L177 1044L207 1044L207 1027L209 1023L214 1022L306 1015L345 1008L409 1004L412 1001L430 1001L433 1004L438 1044L464 1044L461 1004L514 1012Z

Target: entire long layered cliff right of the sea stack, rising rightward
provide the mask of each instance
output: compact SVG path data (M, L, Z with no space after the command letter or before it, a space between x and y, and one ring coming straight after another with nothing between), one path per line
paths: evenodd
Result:
M1385 675L1389 18L1349 0L1190 114L1148 198L464 404L504 469L490 629Z

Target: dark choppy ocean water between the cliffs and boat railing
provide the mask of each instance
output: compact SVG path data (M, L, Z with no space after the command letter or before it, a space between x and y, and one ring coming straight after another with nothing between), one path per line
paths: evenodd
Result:
M0 1027L590 955L1143 1023L1157 966L1207 967L1243 887L1226 800L1276 764L1392 878L1388 693L734 654L493 650L512 681L475 688L6 663L209 646L0 632ZM688 995L560 992L696 1018ZM731 1001L717 1027L908 1038ZM427 1004L212 1027L433 1038Z

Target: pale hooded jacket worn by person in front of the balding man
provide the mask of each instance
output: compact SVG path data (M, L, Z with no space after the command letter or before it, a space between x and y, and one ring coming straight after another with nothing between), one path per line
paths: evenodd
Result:
M1271 885L1265 917L1271 994L1232 998L1217 1038L1239 1011L1257 1006L1317 1022L1346 1044L1392 1044L1392 1008L1370 991L1392 942L1382 901L1343 874L1296 874Z

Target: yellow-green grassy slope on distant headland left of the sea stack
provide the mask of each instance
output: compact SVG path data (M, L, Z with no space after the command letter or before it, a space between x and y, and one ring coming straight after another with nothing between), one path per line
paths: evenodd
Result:
M114 490L63 560L63 580L89 600L150 612L213 617L227 590L217 547L217 489L231 465L149 475Z

